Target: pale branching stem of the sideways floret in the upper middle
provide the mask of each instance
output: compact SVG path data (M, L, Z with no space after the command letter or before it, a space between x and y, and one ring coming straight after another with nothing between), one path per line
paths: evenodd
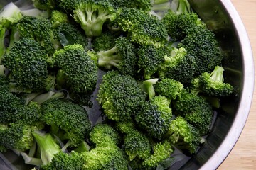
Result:
M107 51L97 52L99 67L105 67L105 69L112 69L112 67L118 67L120 62L120 55L118 54L118 48L116 46Z

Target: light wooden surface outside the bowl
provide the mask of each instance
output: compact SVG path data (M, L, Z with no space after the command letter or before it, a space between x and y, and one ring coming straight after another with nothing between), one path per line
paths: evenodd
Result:
M229 0L226 0L229 1ZM256 70L256 0L231 0L249 35ZM256 79L256 77L255 77ZM256 91L256 86L255 86ZM238 142L218 170L256 169L256 92L245 128Z

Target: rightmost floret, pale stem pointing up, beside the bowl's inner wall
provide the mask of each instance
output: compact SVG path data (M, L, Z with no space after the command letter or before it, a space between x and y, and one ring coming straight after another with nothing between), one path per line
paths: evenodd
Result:
M234 88L224 83L223 67L216 66L213 72L204 72L198 78L193 79L191 91L207 94L208 96L225 97L233 93Z

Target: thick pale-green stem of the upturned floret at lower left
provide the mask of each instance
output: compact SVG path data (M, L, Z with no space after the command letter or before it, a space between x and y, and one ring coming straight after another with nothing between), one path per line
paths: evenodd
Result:
M60 146L57 145L53 137L49 133L36 131L32 133L35 137L41 152L42 164L48 164L54 157L54 154L61 152Z

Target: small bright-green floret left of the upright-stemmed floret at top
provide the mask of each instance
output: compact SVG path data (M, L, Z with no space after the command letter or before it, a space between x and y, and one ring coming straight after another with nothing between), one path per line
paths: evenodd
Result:
M56 28L61 23L68 23L68 16L67 13L63 11L54 10L50 16L50 22L53 28Z

